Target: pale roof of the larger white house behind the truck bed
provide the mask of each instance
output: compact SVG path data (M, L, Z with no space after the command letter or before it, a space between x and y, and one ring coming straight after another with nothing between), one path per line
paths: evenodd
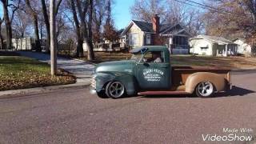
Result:
M215 36L210 36L210 35L198 35L197 37L190 38L190 40L192 40L192 39L206 39L212 43L235 44L234 42L232 42L226 38L215 37Z

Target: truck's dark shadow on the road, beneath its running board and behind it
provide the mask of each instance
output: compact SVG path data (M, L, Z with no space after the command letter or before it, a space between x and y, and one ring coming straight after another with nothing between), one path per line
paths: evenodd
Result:
M247 90L242 87L233 86L232 90L216 93L213 98L218 97L232 97L232 96L246 96L246 94L255 93L253 90ZM183 94L183 95L143 95L138 98L198 98L195 94Z

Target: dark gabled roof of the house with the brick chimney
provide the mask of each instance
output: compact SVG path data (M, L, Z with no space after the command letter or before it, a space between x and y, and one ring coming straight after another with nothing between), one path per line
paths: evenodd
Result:
M123 30L122 34L125 34L127 30L130 29L130 27L135 24L138 26L138 28L144 32L148 33L154 33L153 25L151 22L143 22L143 21L137 21L132 20L130 24L126 27L125 30ZM171 24L160 24L159 25L159 33L160 34L177 34L177 32L183 32L185 29L179 24L171 25ZM182 31L183 30L183 31ZM185 30L186 31L186 30ZM186 33L189 34L189 33ZM189 34L190 35L190 34Z

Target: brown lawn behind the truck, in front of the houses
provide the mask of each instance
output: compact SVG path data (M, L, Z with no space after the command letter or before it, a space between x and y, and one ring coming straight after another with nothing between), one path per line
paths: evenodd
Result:
M86 55L86 53L85 53ZM95 52L94 63L117 61L130 58L131 54L121 52ZM86 60L86 58L81 58ZM226 69L256 69L256 58L244 57L210 57L194 55L171 55L173 66L208 66Z

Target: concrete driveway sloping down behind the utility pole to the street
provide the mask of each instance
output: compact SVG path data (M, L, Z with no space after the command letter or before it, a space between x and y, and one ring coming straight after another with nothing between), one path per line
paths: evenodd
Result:
M17 51L22 56L35 58L42 62L48 62L50 64L50 54L43 54L31 51ZM94 65L84 62L82 60L70 59L70 58L57 58L58 68L69 71L77 77L77 82L88 82L93 70Z

